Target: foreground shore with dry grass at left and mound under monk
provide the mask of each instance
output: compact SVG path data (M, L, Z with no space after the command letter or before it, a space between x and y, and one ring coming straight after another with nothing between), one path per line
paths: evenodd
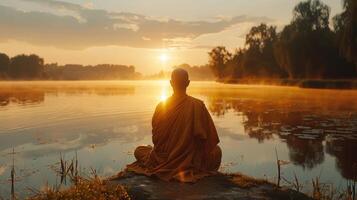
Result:
M241 173L219 173L195 183L162 181L132 172L120 172L101 179L74 177L68 188L45 188L30 200L48 199L96 199L98 197L121 200L162 199L312 199L308 194L289 187L279 187L267 180L257 179ZM109 198L108 198L109 197Z

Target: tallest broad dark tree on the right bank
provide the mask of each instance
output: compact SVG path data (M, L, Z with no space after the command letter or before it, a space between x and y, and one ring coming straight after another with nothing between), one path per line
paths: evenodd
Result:
M300 2L291 23L275 44L279 66L290 78L351 78L355 70L339 56L336 35L328 26L330 9L319 0ZM335 19L335 26L340 26Z

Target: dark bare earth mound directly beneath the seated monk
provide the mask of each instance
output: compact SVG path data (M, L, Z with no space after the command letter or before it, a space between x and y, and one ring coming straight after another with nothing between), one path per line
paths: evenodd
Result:
M111 184L123 185L134 200L162 199L311 199L291 189L278 188L264 180L241 174L219 174L194 184L164 182L155 178L123 173L110 179Z

